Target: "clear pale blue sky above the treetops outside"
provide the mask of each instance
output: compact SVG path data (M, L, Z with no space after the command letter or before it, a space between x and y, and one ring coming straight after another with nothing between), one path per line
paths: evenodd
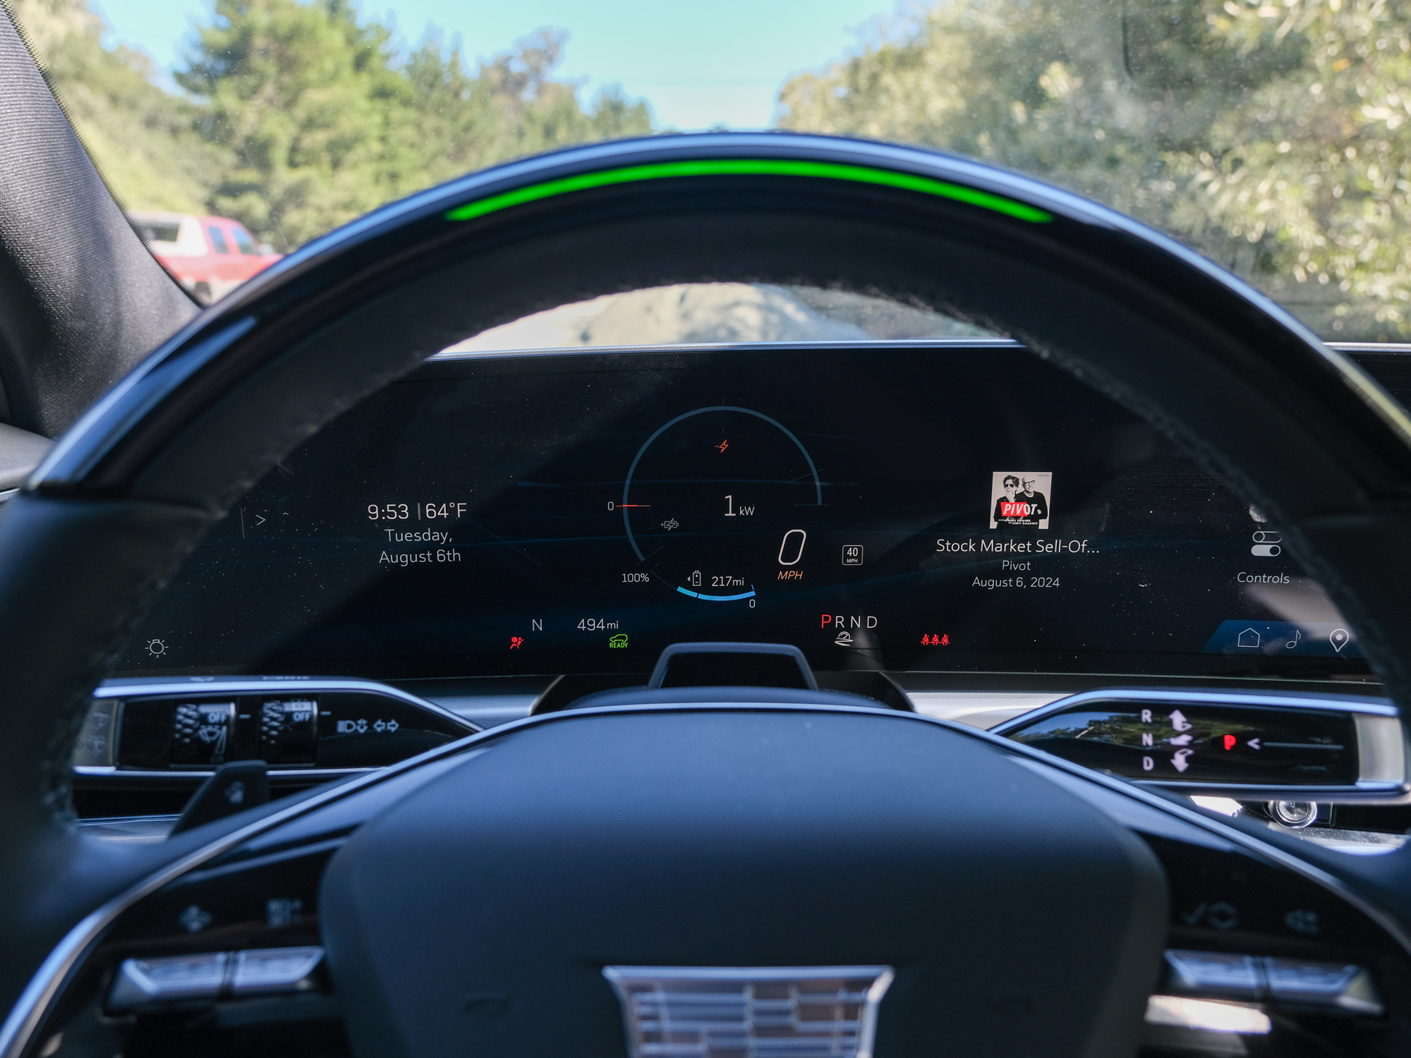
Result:
M405 42L429 24L488 58L539 27L570 32L557 76L584 97L621 85L659 123L682 130L762 128L783 82L872 39L907 0L363 0ZM109 42L135 45L162 69L178 63L213 0L95 0Z

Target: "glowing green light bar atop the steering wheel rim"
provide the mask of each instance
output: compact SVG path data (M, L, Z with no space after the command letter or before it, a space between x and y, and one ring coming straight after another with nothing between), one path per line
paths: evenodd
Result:
M488 199L467 202L446 213L446 220L474 220L487 213L497 213L526 202L567 195L588 188L607 188L612 183L635 183L638 181L659 181L667 176L821 176L832 181L854 181L856 183L878 183L885 188L902 188L923 195L937 195L943 199L965 202L1007 217L1027 220L1030 224L1046 224L1053 213L1036 209L1023 202L1015 202L988 190L976 190L959 183L933 181L930 176L914 176L909 172L873 169L866 165L840 165L837 162L780 161L773 158L711 158L689 162L656 162L652 165L628 165L622 169L584 172L577 176L536 183L531 188L507 190Z

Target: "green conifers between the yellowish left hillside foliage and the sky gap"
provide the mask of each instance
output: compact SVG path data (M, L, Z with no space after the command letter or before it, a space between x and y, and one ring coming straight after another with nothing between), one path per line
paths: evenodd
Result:
M402 61L349 0L216 0L176 75L236 159L212 209L292 248L467 169L650 133L646 104L607 95L584 110L552 79L564 41L540 31L471 73L435 34Z

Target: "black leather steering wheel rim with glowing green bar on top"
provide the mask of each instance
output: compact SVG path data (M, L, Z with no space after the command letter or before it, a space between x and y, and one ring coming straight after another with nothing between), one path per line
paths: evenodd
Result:
M6 1003L82 914L179 851L79 837L68 759L109 659L230 504L459 337L710 279L882 293L1022 340L1266 509L1411 703L1411 420L1263 295L1077 196L917 150L770 134L564 151L291 255L90 409L0 515Z

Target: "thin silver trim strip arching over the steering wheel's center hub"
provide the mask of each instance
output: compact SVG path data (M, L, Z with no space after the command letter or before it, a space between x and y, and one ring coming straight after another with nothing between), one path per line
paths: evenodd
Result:
M1198 829L1204 829L1215 837L1225 839L1226 842L1237 846L1242 852L1246 852L1257 859L1264 859L1271 862L1285 870L1291 870L1300 877L1328 890L1339 900L1345 900L1357 908L1362 914L1367 916L1380 928L1386 930L1387 934L1401 945L1407 955L1411 955L1411 932L1397 918L1387 914L1376 904L1366 900L1355 889L1349 887L1340 877L1329 875L1322 868L1316 868L1311 863L1305 863L1290 852L1283 851L1276 845L1267 845L1259 838L1245 834L1242 829L1230 827L1221 820L1208 817L1206 814L1195 810L1187 808L1185 805L1175 804L1165 797L1158 797L1157 794L1143 790L1140 786L1129 783L1123 779L1116 779L1113 776L1106 776L1099 772L1092 772L1079 765L1070 763L1061 758L1055 758L1050 753L1044 753L1038 749L1030 749L1022 742L1015 742L1012 739L1003 738L989 731L981 731L979 728L971 728L965 724L955 724L952 721L937 719L934 717L927 717L920 712L902 712L899 710L889 710L886 707L871 708L861 705L782 705L777 703L768 704L745 704L745 703L691 703L689 705L601 705L595 708L583 710L567 710L562 712L545 712L538 717L525 717L523 719L511 721L497 728L490 728L474 735L468 735L459 742L452 742L444 746L437 746L419 756L409 758L396 765L388 765L371 774L363 776L361 779L353 779L347 783L337 786L333 790L326 790L320 794L313 794L308 800L299 804L284 808L282 811L274 813L262 820L251 822L248 827L241 827L238 831L233 831L216 841L205 845L195 852L182 856L175 863L169 863L161 870L150 875L143 882L130 887L124 893L113 897L111 900L103 903L97 910L85 916L69 932L55 945L54 951L44 959L40 969L35 971L30 983L25 986L20 999L16 1002L14 1007L10 1010L8 1017L4 1024L0 1026L0 1058L21 1058L25 1045L30 1041L34 1030L40 1026L44 1016L48 1013L49 1006L58 996L62 986L68 982L71 973L76 969L79 961L83 955L89 952L92 945L97 941L99 935L106 930L123 911L131 907L134 903L143 897L157 892L168 882L172 882L189 870L200 866L202 863L219 856L236 845L244 841L258 837L268 829L281 827L285 822L306 815L317 808L332 804L333 801L349 797L354 793L365 790L375 783L384 782L394 776L411 772L422 765L432 763L435 760L442 760L447 756L456 756L464 753L470 749L480 748L481 743L490 743L495 739L512 735L515 732L523 731L525 728L536 726L539 724L563 724L577 719L586 719L594 715L611 715L618 712L693 712L701 710L722 711L722 712L842 712L855 714L865 717L880 717L893 721L907 721L914 724L933 724L947 731L952 731L965 738L976 739L985 742L992 748L1015 758L1023 758L1026 763L1031 766L1038 766L1041 769L1051 769L1054 772L1062 772L1064 774L1081 779L1084 782L1092 783L1094 786L1101 786L1112 793L1125 794L1136 801L1143 803L1149 808L1156 808L1165 815L1181 820ZM1119 825L1125 825L1120 824Z

